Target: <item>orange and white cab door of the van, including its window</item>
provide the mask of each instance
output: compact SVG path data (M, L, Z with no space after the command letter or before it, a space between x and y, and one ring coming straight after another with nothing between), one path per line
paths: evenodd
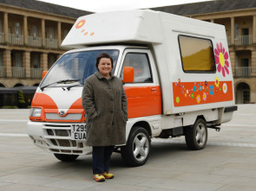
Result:
M121 59L123 68L134 67L135 80L124 84L128 99L128 118L161 114L161 88L149 49L126 49Z

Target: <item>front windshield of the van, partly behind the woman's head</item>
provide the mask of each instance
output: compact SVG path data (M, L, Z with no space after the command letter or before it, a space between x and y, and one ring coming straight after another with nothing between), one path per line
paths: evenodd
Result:
M119 50L91 50L64 54L49 70L40 87L70 86L73 83L83 85L84 80L96 72L96 58L103 52L112 56L114 72Z

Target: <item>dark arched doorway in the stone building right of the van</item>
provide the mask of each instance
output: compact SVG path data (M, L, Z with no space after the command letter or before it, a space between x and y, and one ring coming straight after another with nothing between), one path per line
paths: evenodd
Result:
M236 104L248 104L250 98L251 88L245 82L241 82L236 86Z

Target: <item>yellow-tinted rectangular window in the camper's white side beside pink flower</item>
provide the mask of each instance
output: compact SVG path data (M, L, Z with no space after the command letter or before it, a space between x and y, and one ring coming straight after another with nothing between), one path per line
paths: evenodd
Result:
M213 43L208 39L179 35L184 72L215 72Z

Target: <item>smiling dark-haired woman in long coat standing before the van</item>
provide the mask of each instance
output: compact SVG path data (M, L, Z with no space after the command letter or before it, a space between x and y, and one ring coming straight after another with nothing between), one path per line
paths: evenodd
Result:
M82 107L87 114L87 144L93 147L95 181L112 179L110 156L116 144L126 143L128 106L122 82L115 77L113 59L106 53L96 59L97 72L85 80Z

